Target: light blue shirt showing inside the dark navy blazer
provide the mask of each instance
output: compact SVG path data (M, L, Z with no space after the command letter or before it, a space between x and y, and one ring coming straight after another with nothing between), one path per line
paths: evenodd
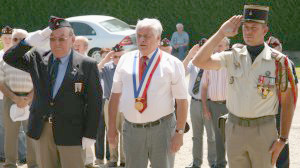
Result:
M69 64L69 58L70 58L70 53L67 56L64 56L62 58L60 58L61 63L58 65L58 72L57 72L57 76L56 76L56 80L55 80L55 84L54 84L54 89L53 89L53 97L56 96L67 71L68 68L68 64Z

